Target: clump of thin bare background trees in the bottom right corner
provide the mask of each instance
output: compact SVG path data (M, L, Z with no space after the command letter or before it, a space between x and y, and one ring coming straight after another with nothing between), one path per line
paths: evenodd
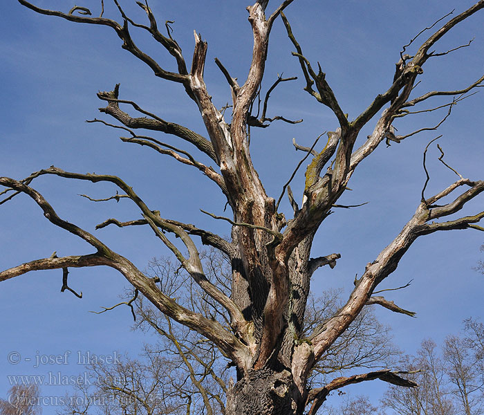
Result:
M449 335L439 353L431 340L422 342L417 356L406 356L401 368L420 385L390 386L382 400L402 415L484 414L484 325L466 320L465 336Z

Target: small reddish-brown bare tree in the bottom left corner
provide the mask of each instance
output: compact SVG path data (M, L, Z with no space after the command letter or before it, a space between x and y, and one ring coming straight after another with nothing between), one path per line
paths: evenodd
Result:
M8 398L0 399L1 415L39 415L40 389L37 385L13 385L8 390Z

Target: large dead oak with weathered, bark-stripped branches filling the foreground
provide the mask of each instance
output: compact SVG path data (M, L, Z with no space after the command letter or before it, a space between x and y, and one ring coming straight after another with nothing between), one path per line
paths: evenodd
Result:
M339 254L328 252L318 252L316 257L311 258L310 250L319 226L331 217L333 208L342 207L338 203L339 198L348 190L351 176L365 158L370 157L382 142L401 142L420 131L437 129L449 116L454 104L465 98L469 91L483 86L484 76L478 74L478 79L460 86L462 89L428 91L418 96L414 92L414 86L423 73L426 62L452 52L448 50L437 53L438 41L456 25L483 9L484 0L478 1L455 17L439 19L436 24L429 26L429 29L422 30L418 36L413 37L411 42L402 48L400 59L395 68L392 68L393 81L389 82L388 89L375 91L375 99L368 102L366 109L353 120L348 119L331 89L331 76L326 77L319 64L314 66L311 63L315 57L304 55L303 48L297 42L297 34L292 32L288 19L283 15L283 10L291 3L294 2L297 7L296 1L282 1L268 15L268 0L257 0L248 7L254 47L248 76L243 83L239 84L227 68L216 60L230 89L231 116L227 115L227 111L214 106L210 91L204 82L207 43L201 35L195 34L192 61L187 63L186 55L183 55L172 36L169 23L167 22L166 32L165 29L161 29L147 1L136 2L146 12L145 24L133 21L127 15L127 6L124 6L124 3L131 3L129 1L123 4L120 0L101 1L100 11L96 12L99 17L95 17L94 12L84 6L74 6L71 10L62 12L40 8L26 0L18 1L26 8L42 15L111 28L122 40L122 48L147 64L156 77L180 85L181 91L194 102L194 114L201 116L203 120L205 136L142 109L136 102L121 99L118 85L113 91L99 93L98 96L106 103L106 107L101 110L102 113L111 116L120 124L111 124L103 120L93 122L103 122L111 127L123 129L129 135L128 138L122 138L124 142L150 147L161 155L172 157L205 174L225 195L227 206L232 211L230 217L209 214L232 224L232 239L227 241L195 225L165 218L162 212L148 206L128 183L117 176L81 174L51 166L22 180L1 177L0 184L5 190L1 192L4 199L0 203L12 200L17 194L26 194L39 205L48 221L84 239L93 247L93 252L89 255L67 257L52 255L30 261L4 270L0 273L0 280L10 279L30 270L62 269L62 291L73 291L68 286L68 268L109 266L118 270L133 289L156 308L158 314L166 315L187 329L200 333L236 367L236 382L229 385L226 391L227 415L303 414L306 408L308 414L313 415L331 391L366 380L380 379L395 385L416 386L414 382L402 378L390 369L333 378L325 385L314 388L309 380L315 369L325 370L324 367L321 368L322 362L328 358L331 348L342 338L348 327L357 321L358 316L369 304L378 304L397 313L412 315L382 295L373 294L378 290L378 285L397 268L404 253L418 237L439 230L482 230L476 223L483 218L484 212L475 212L471 216L456 215L449 221L443 218L456 214L467 202L481 194L484 190L484 181L460 176L456 169L447 165L442 156L440 160L452 169L457 178L445 189L430 195L427 191L429 173L424 162L427 181L422 189L420 201L416 201L416 212L404 224L395 239L376 258L369 260L364 273L355 279L353 291L342 307L313 326L310 333L304 333L310 277L319 267L334 267L339 259ZM120 22L106 17L111 12L118 13ZM249 151L250 129L269 127L275 120L295 122L283 116L270 118L267 113L270 92L288 78L279 77L265 95L266 99L261 100L260 106L257 105L259 96L264 96L261 95L260 87L266 69L270 32L274 22L279 18L282 19L295 50L293 55L301 66L306 84L304 90L312 97L311 99L331 109L338 124L335 131L328 132L326 145L318 145L315 142L313 147L303 148L296 144L297 148L306 152L310 164L306 168L304 194L298 198L301 200L300 203L297 203L293 196L289 182L283 186L281 196L287 193L293 209L290 219L286 219L279 210L281 198L275 199L266 193L252 164ZM165 62L158 62L142 50L142 46L131 37L131 33L136 30L149 33L153 42L157 42L171 55L170 59L176 64L176 71L167 70L169 66L166 66ZM420 39L423 39L423 42ZM452 96L454 98L449 100L448 97ZM449 110L445 118L427 128L408 131L402 135L395 134L395 120L420 112L411 110L415 106L425 106L430 98L435 97L447 97L447 101L440 105L424 107L420 111L431 111L444 106ZM141 113L143 117L134 117L127 112L132 109ZM368 126L375 116L376 120L371 124L372 132L356 144L362 129ZM176 136L193 145L197 156L167 145L158 138L140 135L136 132L138 129ZM212 165L201 163L198 155L206 156ZM97 228L110 224L120 227L149 227L161 243L174 253L180 266L198 284L207 299L215 304L217 309L225 310L228 316L227 324L208 318L198 311L197 306L180 304L176 297L163 292L153 279L142 273L129 259L113 251L91 232L59 217L53 206L32 187L36 178L50 175L92 183L111 183L117 189L117 193L106 199L128 199L139 208L140 218L127 222L107 219L97 225ZM174 243L174 237L183 243L184 252ZM207 270L203 266L195 242L196 237L200 237L203 243L229 257L232 272L228 291L223 291L216 281L207 277Z

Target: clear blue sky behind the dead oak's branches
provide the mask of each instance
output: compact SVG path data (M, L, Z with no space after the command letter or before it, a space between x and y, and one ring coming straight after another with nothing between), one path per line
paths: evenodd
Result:
M193 30L207 40L205 80L214 102L222 107L230 100L230 91L213 58L221 59L232 76L243 80L252 48L245 11L248 4L194 0L151 3L160 21L176 21L174 36L187 60L193 50ZM453 8L458 13L473 3L468 0L296 0L286 15L304 54L311 62L322 64L344 112L354 118L376 94L389 86L403 44ZM64 0L38 0L37 4L64 11L74 5L67 5ZM86 0L82 6L93 10L99 7L94 0ZM440 51L466 44L475 37L469 48L430 59L416 93L459 89L481 77L483 21L484 13L480 12L439 42ZM210 181L204 181L194 169L180 166L149 149L120 142L118 131L84 122L102 118L97 108L104 103L95 94L110 91L119 82L120 98L134 100L166 120L203 133L196 108L185 98L180 86L154 78L149 68L120 48L120 40L108 28L39 16L10 0L2 6L0 30L1 176L24 178L50 165L75 172L116 174L132 185L151 209L160 210L162 216L228 234L225 223L207 218L199 211L202 208L222 213L223 197ZM148 37L139 37L139 42L160 62L167 62L167 68L172 68L169 56L149 42ZM263 90L274 82L278 73L300 77L297 61L290 56L291 50L281 21L277 21ZM302 124L274 123L269 129L254 131L252 136L254 164L266 190L276 199L301 158L301 152L295 152L292 147L292 138L301 145L310 145L320 133L337 127L330 111L304 93L303 86L301 80L280 86L272 93L268 110L270 116L304 118ZM332 286L342 287L348 293L355 273L361 275L364 265L375 259L411 217L425 181L422 151L431 138L443 133L439 142L447 162L465 177L483 178L483 97L479 93L458 104L440 131L422 133L400 145L382 147L362 163L351 179L353 192L348 192L342 203L369 201L369 204L353 210L337 210L322 225L313 256L340 252L342 259L334 270L323 269L313 277L315 294ZM444 102L435 100L434 103ZM443 115L445 112L416 116L395 126L403 134L434 125ZM366 133L362 131L360 140ZM175 138L162 138L180 145ZM428 192L454 181L453 173L438 163L437 157L438 151L432 147ZM299 200L303 174L298 174L293 183L292 189ZM92 232L97 223L109 217L122 220L139 217L133 206L124 201L94 205L77 196L111 196L113 189L107 185L43 177L35 181L34 187L46 196L59 216ZM480 212L482 200L474 201L465 213ZM289 213L286 200L281 207ZM90 252L85 243L48 223L27 197L18 196L0 209L2 269L48 257L53 251L59 256ZM129 257L140 269L151 258L167 255L148 229L105 228L96 232L102 241ZM416 311L418 318L378 310L380 320L393 326L395 343L404 351L415 351L423 338L440 342L445 335L458 332L466 317L483 315L483 276L472 270L482 259L479 246L484 242L483 235L468 230L422 237L402 259L398 270L384 282L383 288L391 288L413 279L409 288L388 298ZM1 283L0 396L6 396L10 387L7 376L47 375L58 371L65 375L78 374L84 369L77 365L77 351L102 355L130 351L134 355L142 342L149 341L130 330L131 314L127 308L102 315L89 313L119 301L118 296L126 286L121 275L104 268L76 269L71 270L70 284L83 292L83 299L71 293L59 293L60 270L30 273ZM17 365L8 362L8 353L12 351L21 356ZM66 351L71 351L68 365L38 368L32 365L35 356L64 355ZM27 358L32 360L26 361ZM366 384L354 390L363 393L373 389L378 387ZM62 396L66 387L44 386L42 391L44 395ZM55 414L55 409L46 407L44 414Z

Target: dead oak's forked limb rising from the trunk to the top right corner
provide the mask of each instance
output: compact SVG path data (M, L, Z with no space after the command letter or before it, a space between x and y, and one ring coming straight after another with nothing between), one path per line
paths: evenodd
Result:
M331 206L335 204L335 201L342 195L348 185L348 181L355 172L355 169L359 163L361 163L364 158L369 156L380 143L391 135L393 129L392 122L400 111L404 107L408 107L408 103L412 103L409 100L409 96L415 85L416 79L420 73L422 73L422 66L427 62L427 59L432 56L428 53L429 48L434 46L438 40L449 32L456 24L460 23L467 17L473 15L484 8L484 1L478 1L474 6L460 13L460 15L454 17L446 24L444 24L439 30L433 35L429 36L428 39L421 44L418 48L416 55L410 57L409 55L402 55L400 62L396 65L395 77L393 84L385 91L377 95L375 100L371 102L369 107L367 107L362 113L360 113L355 120L352 122L342 122L341 116L338 116L338 108L331 107L337 119L341 125L341 131L337 131L339 134L339 144L336 151L336 157L333 165L328 168L328 171L324 176L319 178L317 176L313 179L313 185L311 187L306 186L305 188L305 200L306 203L301 207L301 210L297 218L290 223L286 232L284 232L284 240L278 247L279 250L284 250L290 253L291 250L301 241L301 238L310 229L315 229L328 215ZM315 82L314 77L311 75L308 69L308 59L302 55L301 48L297 41L295 40L295 35L292 33L290 26L285 20L286 29L288 35L297 49L297 57L303 68L304 77L306 79L306 91L315 94L312 89L312 85ZM482 78L477 82L470 84L467 88L461 91L455 91L456 93L465 93L471 91L474 88L478 88L482 85ZM329 91L329 90L328 90ZM450 93L450 91L449 91ZM436 95L449 95L445 92L431 92L426 95L422 95L420 98L416 98L413 103L418 103ZM318 99L318 96L316 98ZM324 102L323 102L324 103ZM331 103L327 101L327 103ZM327 104L326 103L326 104ZM390 103L387 109L384 109L382 116L378 119L375 124L375 128L371 136L368 137L366 142L359 148L354 149L354 145L358 136L358 133L362 127L375 116L378 111L384 108L385 104ZM319 170L321 172L321 170ZM307 177L307 176L306 176Z

